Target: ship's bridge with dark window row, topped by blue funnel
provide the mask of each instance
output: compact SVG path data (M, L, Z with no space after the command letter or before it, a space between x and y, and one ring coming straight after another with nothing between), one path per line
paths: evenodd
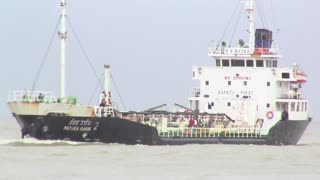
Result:
M272 31L256 29L253 39L253 45L246 46L243 40L239 40L239 47L235 48L228 46L226 42L218 45L213 42L208 55L215 59L217 67L277 68L281 56L279 49L272 43Z

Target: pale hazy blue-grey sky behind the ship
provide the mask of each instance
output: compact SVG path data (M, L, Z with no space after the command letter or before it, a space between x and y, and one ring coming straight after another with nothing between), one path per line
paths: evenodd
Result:
M99 76L112 74L127 110L163 103L186 105L193 65L210 65L208 45L219 40L238 0L69 0L68 16ZM320 118L320 1L258 0L264 25L280 29L280 66L296 62L308 74L304 97ZM59 17L59 0L11 0L0 6L0 117L10 116L10 90L30 89ZM273 16L267 14L272 13ZM247 40L245 15L234 42ZM238 13L237 15L238 16ZM259 16L256 17L261 24ZM236 22L235 18L233 22ZM259 27L259 26L258 26ZM97 79L69 29L67 95L89 103ZM227 33L232 34L234 28ZM238 37L237 37L238 36ZM226 36L226 40L229 40ZM59 41L55 38L37 83L59 95ZM114 93L115 99L118 99ZM95 103L96 101L92 102Z

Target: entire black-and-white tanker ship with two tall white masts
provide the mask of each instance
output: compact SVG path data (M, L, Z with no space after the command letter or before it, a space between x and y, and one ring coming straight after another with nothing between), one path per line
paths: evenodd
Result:
M112 102L110 66L104 66L99 104L82 105L65 95L66 0L61 0L61 92L9 92L9 108L21 136L143 145L267 144L296 145L311 122L309 101L302 94L307 75L293 64L278 67L281 55L273 32L255 28L255 0L244 2L249 40L235 47L209 47L211 66L192 68L187 107L161 105L145 111L120 111Z

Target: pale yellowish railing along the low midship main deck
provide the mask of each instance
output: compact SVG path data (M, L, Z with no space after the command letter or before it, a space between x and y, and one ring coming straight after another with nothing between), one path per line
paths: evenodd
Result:
M162 138L251 138L263 136L258 128L158 128Z

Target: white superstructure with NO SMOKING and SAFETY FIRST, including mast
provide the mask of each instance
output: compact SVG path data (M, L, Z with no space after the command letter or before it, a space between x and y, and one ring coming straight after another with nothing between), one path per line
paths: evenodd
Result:
M236 127L260 124L269 129L283 118L284 111L289 120L307 120L309 103L301 90L306 75L295 64L278 67L281 56L272 46L272 32L254 28L254 0L247 2L246 10L248 46L231 48L222 43L209 48L213 65L192 70L200 87L192 89L190 108L200 113L226 113Z

